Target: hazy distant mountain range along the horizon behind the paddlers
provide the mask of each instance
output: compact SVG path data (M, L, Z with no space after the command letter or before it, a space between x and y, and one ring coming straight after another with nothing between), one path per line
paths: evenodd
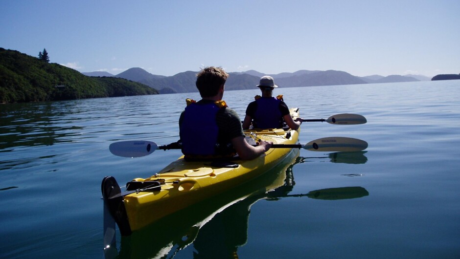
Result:
M160 93L185 93L198 92L195 81L196 71L185 71L173 76L154 75L142 68L133 67L120 74L112 75L108 72L84 72L87 76L97 77L118 77L138 82L152 88L158 89ZM254 89L264 73L248 70L245 72L230 72L225 87L226 90ZM294 73L269 74L275 79L275 84L280 87L301 87L301 86L333 86L333 85L355 85L375 83L396 83L430 81L429 77L421 75L371 75L365 77L353 76L344 71L336 70L299 70Z

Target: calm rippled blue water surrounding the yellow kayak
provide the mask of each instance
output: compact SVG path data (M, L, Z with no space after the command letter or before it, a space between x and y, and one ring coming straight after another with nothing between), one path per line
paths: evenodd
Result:
M243 117L256 94L227 91L224 100ZM368 149L300 150L263 179L131 237L117 233L119 258L460 258L459 80L275 94L305 119L357 113L368 120L303 123L301 143L344 136L367 141ZM185 98L200 99L188 93L1 105L0 258L101 258L102 178L123 185L181 154L122 158L109 144L176 141ZM266 193L267 186L275 191ZM355 188L306 195L342 187Z

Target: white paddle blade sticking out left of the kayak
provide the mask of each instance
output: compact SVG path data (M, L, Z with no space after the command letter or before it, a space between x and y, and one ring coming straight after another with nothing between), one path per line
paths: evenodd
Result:
M140 157L151 154L158 146L151 141L120 141L110 144L111 153L122 157Z

